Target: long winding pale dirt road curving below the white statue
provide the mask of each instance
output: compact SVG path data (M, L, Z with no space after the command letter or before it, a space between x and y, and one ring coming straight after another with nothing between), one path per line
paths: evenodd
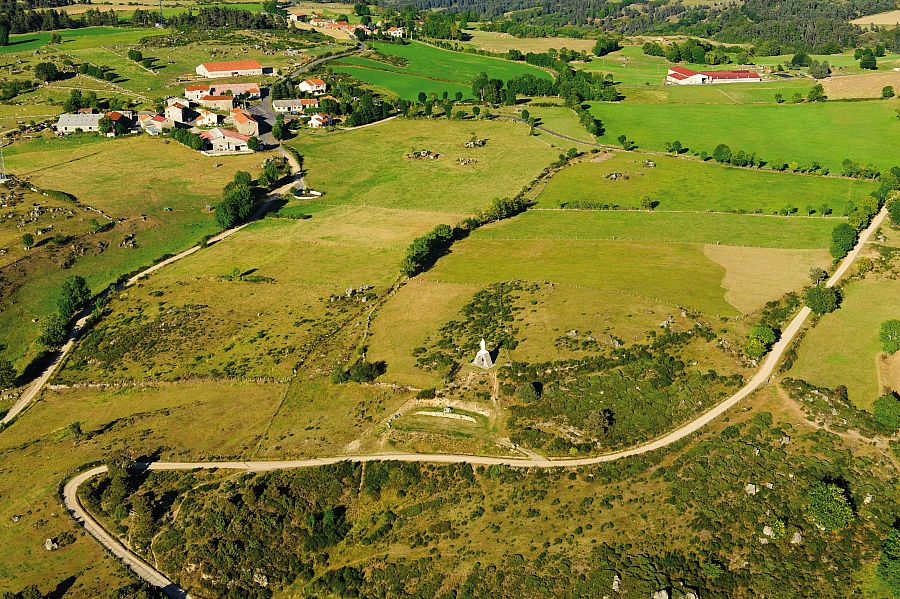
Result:
M872 223L860 234L856 247L847 255L840 263L838 268L826 282L827 287L834 287L838 281L847 273L853 262L859 256L863 247L868 243L875 230L881 226L887 216L887 209L883 208L881 212L872 220ZM763 362L759 371L747 382L744 387L723 401L714 408L701 414L695 420L673 430L672 432L654 439L643 445L616 451L601 456L578 459L558 459L551 460L547 458L496 458L488 456L474 455L445 455L445 454L420 454L420 453L398 453L398 454L373 454L373 455L346 455L346 456L329 456L322 458L310 458L306 460L285 460L285 461L234 461L234 462L149 462L138 464L139 468L147 470L195 470L195 469L228 469L228 470L245 470L248 472L265 472L269 470L280 470L290 468L312 468L316 466L325 466L329 464L337 464L339 462L376 462L376 461L398 461L398 462L433 462L440 464L459 464L466 463L472 465L504 465L518 468L571 468L575 466L588 466L591 464L599 464L602 462L611 462L621 458L640 455L656 449L661 449L688 437L701 428L709 424L712 420L718 418L727 410L734 407L735 404L756 391L761 387L769 377L775 372L778 362L784 355L791 342L796 338L806 319L810 315L809 308L804 307L794 317L790 324L785 327L781 334L781 339L772 347L766 360ZM106 466L98 466L92 470L88 470L68 480L63 489L63 499L66 508L72 516L81 523L85 530L101 546L109 550L113 555L121 559L129 568L131 568L138 576L149 582L150 584L160 587L169 597L173 599L185 599L189 597L186 592L174 585L162 573L155 570L152 566L142 560L137 554L125 547L120 541L110 535L102 526L82 507L78 501L78 487L86 480L102 474L107 471Z

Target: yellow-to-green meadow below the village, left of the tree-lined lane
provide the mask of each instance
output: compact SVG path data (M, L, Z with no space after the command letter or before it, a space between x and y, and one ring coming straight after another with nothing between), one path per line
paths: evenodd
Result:
M47 244L32 250L28 267L5 273L11 287L2 296L0 338L20 367L37 351L33 340L41 319L55 310L63 279L80 274L100 291L122 274L197 243L217 230L207 207L219 200L225 183L238 170L258 172L265 160L259 155L207 158L161 139L93 135L15 143L5 149L4 158L9 172L41 188L70 193L120 221L107 232L80 239L86 251L70 268L59 266L69 245ZM221 166L214 166L216 160ZM79 218L86 223L97 216L84 213ZM21 237L21 231L17 234ZM135 247L121 247L126 235L135 236Z

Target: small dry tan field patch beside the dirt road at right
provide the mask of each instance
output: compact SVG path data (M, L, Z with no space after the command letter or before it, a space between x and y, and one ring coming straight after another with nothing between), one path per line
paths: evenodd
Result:
M809 269L831 263L825 250L789 250L706 245L703 253L725 269L728 303L745 314L809 282Z

